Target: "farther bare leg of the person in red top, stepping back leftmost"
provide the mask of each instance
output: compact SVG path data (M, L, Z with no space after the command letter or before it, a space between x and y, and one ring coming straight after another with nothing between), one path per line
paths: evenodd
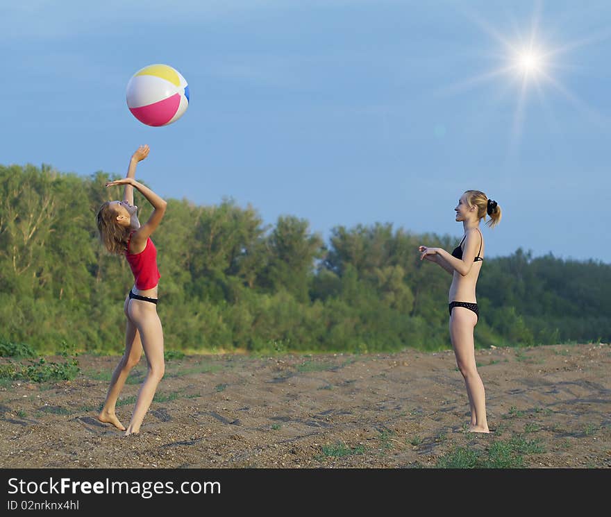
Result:
M128 299L126 300L124 312L127 316L127 325L125 329L125 353L117 364L115 371L112 372L112 378L110 379L110 387L108 387L108 393L106 393L106 402L104 407L101 409L98 415L98 420L105 423L111 423L117 429L122 431L125 430L125 426L119 422L119 418L115 414L115 405L119 394L125 385L127 377L136 364L142 357L142 342L140 341L140 332L138 332L135 323L129 319L127 314Z

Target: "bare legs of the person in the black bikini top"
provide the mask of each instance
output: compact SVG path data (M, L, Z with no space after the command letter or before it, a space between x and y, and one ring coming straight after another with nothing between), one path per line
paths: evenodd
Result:
M473 329L476 314L466 307L454 307L450 318L450 338L456 356L456 364L464 378L471 407L470 432L489 432L486 419L486 395L484 384L477 371Z

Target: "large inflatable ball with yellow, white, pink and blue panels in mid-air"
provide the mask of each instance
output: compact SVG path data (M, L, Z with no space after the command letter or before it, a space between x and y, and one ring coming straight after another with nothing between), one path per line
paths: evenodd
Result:
M189 85L168 65L149 65L127 83L127 107L147 126L167 126L180 119L189 106Z

